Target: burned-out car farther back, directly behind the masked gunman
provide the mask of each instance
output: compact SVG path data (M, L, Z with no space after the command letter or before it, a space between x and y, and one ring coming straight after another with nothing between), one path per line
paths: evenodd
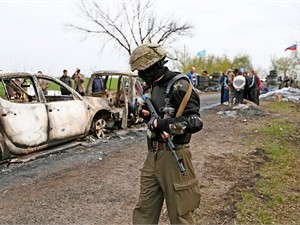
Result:
M143 102L142 83L136 73L127 71L96 71L88 82L86 96L106 99L112 108L117 128L140 124L138 105Z

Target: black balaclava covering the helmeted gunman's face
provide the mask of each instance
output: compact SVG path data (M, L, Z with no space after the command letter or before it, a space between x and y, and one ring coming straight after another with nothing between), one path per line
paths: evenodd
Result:
M167 67L164 66L166 63L167 61L161 60L145 70L138 71L138 75L150 86L167 71Z

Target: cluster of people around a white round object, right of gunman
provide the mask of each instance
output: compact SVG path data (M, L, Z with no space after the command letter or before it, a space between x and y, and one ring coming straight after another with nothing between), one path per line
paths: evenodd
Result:
M227 69L220 78L221 104L235 105L244 99L259 105L261 81L255 70Z

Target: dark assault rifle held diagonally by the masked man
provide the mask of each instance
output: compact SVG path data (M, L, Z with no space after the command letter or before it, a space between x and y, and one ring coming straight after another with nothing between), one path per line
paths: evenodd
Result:
M144 100L144 102L147 104L149 110L150 110L150 113L151 113L151 117L154 117L154 118L158 118L158 114L151 102L151 100L149 98L147 98L145 95L142 95L142 99ZM175 157L176 161L177 161L177 165L179 167L179 170L180 172L182 173L183 176L186 176L186 170L183 166L183 163L182 163L182 158L179 158L178 155L176 154L176 150L175 150L175 145L172 141L172 137L169 136L167 138L167 143L168 143L168 147L169 149L171 150L173 156Z

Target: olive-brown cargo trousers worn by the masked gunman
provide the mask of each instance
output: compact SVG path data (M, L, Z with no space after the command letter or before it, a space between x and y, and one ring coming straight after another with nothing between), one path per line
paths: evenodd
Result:
M194 224L193 211L200 204L199 181L195 177L189 148L176 151L183 159L183 176L171 151L149 151L141 170L139 201L133 224L158 224L165 200L171 224Z

